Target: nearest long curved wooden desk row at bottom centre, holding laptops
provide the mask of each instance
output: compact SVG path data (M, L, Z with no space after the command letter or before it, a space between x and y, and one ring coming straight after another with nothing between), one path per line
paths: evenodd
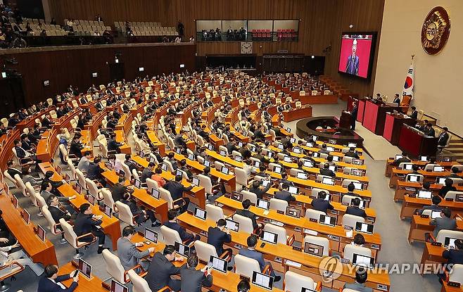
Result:
M215 227L215 222L210 220L201 220L193 215L184 212L182 215L177 217L179 223L182 224L186 229L190 229L200 234L201 237L207 237L207 231L209 227ZM230 231L232 234L232 242L226 243L228 246L232 247L234 254L238 253L238 250L241 247L246 247L246 239L249 234L244 232L234 232ZM203 240L205 241L205 239ZM272 267L279 272L286 272L288 270L295 270L298 274L307 275L312 277L314 281L321 281L322 277L320 272L323 272L324 269L320 266L322 258L318 258L314 255L309 255L301 251L293 250L291 246L286 246L281 243L272 244L267 243L263 248L260 247L260 242L256 246L256 250L261 253L264 253L264 258L272 262ZM300 264L300 267L292 265L289 261L296 262ZM349 265L343 265L343 269L340 277L331 282L324 282L324 287L327 288L341 288L345 282L352 282L353 277L355 278L355 272L350 272L348 269ZM351 269L355 271L355 269ZM391 286L388 279L387 272L383 270L374 270L374 272L369 273L367 285L372 288L377 288L377 284Z

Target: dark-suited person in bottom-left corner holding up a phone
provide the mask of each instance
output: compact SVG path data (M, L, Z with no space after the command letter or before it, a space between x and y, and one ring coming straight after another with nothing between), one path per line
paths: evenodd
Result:
M75 277L72 278L72 275L75 274ZM72 283L69 288L66 288L62 281L72 279ZM58 266L56 265L47 265L45 267L45 272L42 278L39 280L39 287L37 292L72 292L75 291L75 288L79 285L79 273L70 272L69 274L63 274L58 276Z

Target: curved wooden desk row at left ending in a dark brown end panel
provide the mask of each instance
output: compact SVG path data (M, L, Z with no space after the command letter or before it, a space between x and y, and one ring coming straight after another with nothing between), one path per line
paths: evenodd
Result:
M58 174L58 172L56 172L55 167L53 167L53 165L51 165L49 162L39 163L39 167L43 173L49 170L54 172L53 177L51 177L53 181L59 182L63 179L63 177L61 177L61 175ZM64 183L62 186L58 187L58 191L65 197L76 196L76 198L69 201L76 210L79 210L80 205L84 203L89 203L89 201L85 199L84 195L81 193L77 193L75 189L72 189L72 186L70 184ZM101 227L103 228L104 233L110 236L110 239L113 243L113 250L117 250L117 242L121 236L120 222L118 218L114 216L108 217L108 215L106 215L104 212L100 210L99 205L91 205L91 209L93 210L93 213L95 215L103 216L103 218L101 219L103 221L103 223L101 223Z

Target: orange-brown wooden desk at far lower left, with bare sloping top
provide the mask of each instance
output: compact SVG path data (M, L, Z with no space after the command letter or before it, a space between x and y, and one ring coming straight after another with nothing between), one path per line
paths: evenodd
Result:
M3 211L3 215L1 217L13 236L15 236L15 239L18 239L25 253L30 256L33 262L40 262L43 265L58 265L53 243L48 239L45 239L45 242L40 240L39 236L34 232L34 224L32 222L26 224L20 215L20 210L13 207L11 198L6 196L5 191L2 193L3 196L0 196L0 209ZM46 226L43 227L46 230ZM50 236L48 231L46 236Z

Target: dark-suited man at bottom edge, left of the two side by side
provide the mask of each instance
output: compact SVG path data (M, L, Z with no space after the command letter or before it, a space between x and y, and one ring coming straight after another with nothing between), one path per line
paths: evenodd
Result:
M151 291L158 291L164 286L169 286L175 292L180 291L180 280L172 279L171 276L180 274L180 271L186 268L186 265L175 267L172 264L174 261L183 260L182 257L176 257L176 254L175 247L170 245L165 246L163 253L157 252L154 254L148 274L145 277Z

